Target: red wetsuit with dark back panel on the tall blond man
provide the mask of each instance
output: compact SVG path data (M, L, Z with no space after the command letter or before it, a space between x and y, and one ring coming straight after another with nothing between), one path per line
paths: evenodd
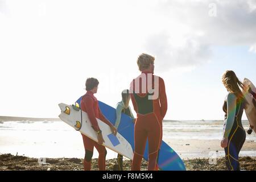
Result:
M147 139L148 170L154 171L155 169L158 169L156 160L162 142L162 121L167 111L167 97L163 79L154 75L148 77L148 75L152 75L152 73L142 72L142 74L135 78L130 85L131 101L133 102L134 110L137 113L137 119L134 126L135 149L131 167L133 171L141 170L141 161ZM145 76L146 85L142 84L141 78ZM150 93L151 91L148 92L148 79L152 80L152 86L150 86L150 88L159 90L158 97L153 100L148 99L148 96L152 96L156 91L154 93ZM158 82L156 79L158 79ZM143 91L144 86L146 86L146 92Z

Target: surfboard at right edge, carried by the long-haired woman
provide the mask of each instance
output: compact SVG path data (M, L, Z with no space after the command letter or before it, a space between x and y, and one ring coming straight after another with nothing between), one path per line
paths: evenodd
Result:
M254 93L256 93L256 88L249 79L245 78L243 80L243 84L245 84L246 90L248 90L249 85L250 85L251 90ZM243 94L245 95L246 101L249 103L249 105L247 106L247 109L245 109L245 113L246 113L246 116L247 116L247 119L248 119L250 125L254 126L253 130L256 133L256 107L253 104L253 100L255 100L255 99L251 96L251 94L248 91L247 92L243 91Z

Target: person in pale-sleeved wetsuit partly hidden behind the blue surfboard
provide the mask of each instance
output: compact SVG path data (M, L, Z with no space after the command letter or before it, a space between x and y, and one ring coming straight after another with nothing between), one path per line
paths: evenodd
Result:
M117 119L115 119L115 125L114 127L118 131L118 126L121 121L121 115L122 113L125 113L126 115L129 115L131 117L132 121L134 122L134 116L133 112L131 111L131 107L129 106L129 102L131 100L129 90L123 90L122 91L122 101L117 103L117 109L116 109L116 114L117 114ZM117 171L123 171L123 156L118 154L117 155L117 166L114 166L114 170Z

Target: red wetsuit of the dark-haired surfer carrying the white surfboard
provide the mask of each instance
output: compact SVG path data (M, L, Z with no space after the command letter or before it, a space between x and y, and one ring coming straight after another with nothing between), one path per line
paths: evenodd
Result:
M101 119L101 121L105 122L109 126L113 126L112 123L108 121L101 113L100 107L98 106L98 100L93 96L93 93L88 91L82 97L81 100L81 109L88 114L90 122L92 123L92 127L95 131L99 131L100 127L98 127L98 122L96 118ZM106 164L106 148L94 140L86 137L82 134L82 140L84 142L85 148L85 158L84 158L84 170L89 171L91 166L91 160L93 155L93 148L96 147L98 151L98 168L100 171L105 171Z

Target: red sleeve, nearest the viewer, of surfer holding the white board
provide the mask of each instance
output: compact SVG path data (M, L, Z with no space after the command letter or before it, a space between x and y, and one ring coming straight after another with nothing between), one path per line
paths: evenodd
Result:
M90 123L92 123L92 128L95 131L99 131L100 127L98 127L98 122L97 122L97 119L95 117L95 113L93 110L93 104L94 104L93 98L86 96L84 103L85 103L85 107L86 107L86 113L88 115L88 118L90 119Z

